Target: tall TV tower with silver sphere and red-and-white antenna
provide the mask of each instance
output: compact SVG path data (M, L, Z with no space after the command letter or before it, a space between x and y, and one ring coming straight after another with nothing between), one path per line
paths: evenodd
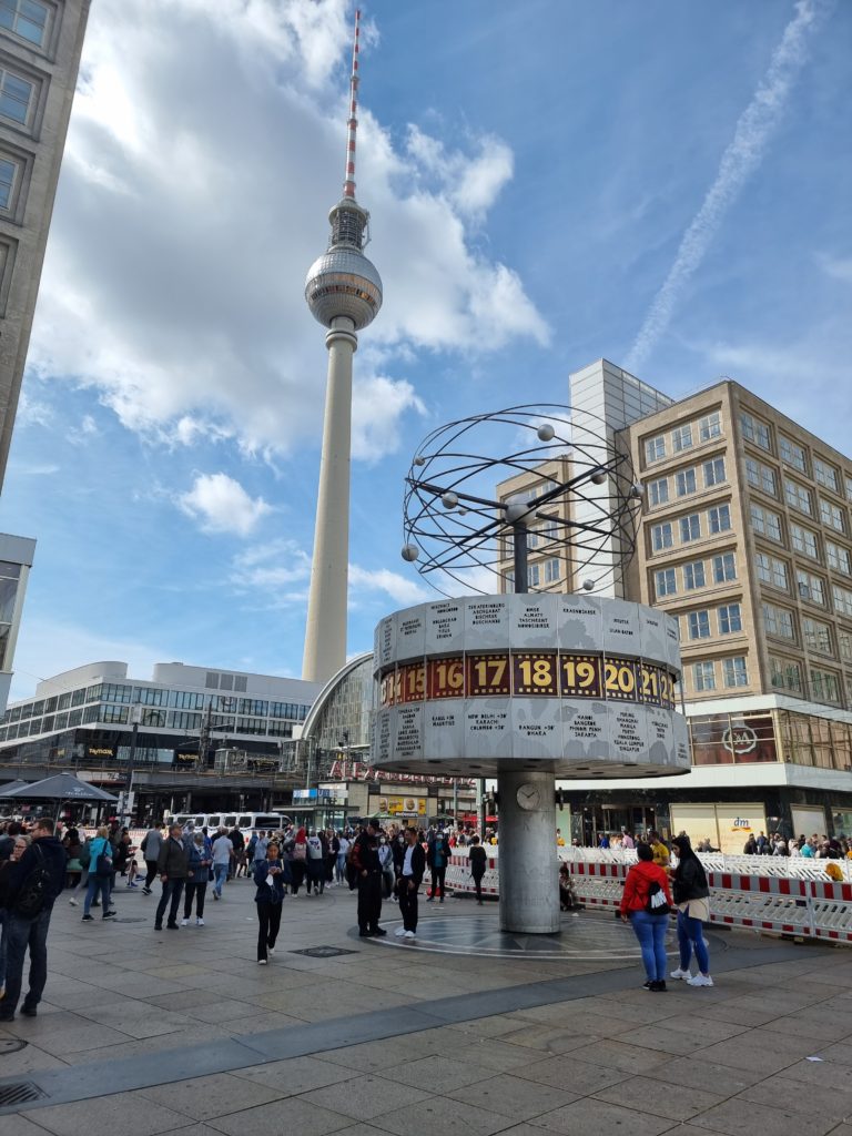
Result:
M356 333L371 324L382 307L382 279L361 251L369 214L354 195L360 19L356 11L343 197L328 214L328 250L310 266L304 284L308 307L328 328L328 387L302 660L302 678L315 683L327 682L346 661L352 356L358 349Z

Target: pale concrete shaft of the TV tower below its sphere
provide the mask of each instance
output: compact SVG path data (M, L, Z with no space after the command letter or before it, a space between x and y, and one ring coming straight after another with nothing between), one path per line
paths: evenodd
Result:
M352 320L336 317L325 342L328 385L302 662L302 678L312 683L326 682L346 661L352 356L358 350Z

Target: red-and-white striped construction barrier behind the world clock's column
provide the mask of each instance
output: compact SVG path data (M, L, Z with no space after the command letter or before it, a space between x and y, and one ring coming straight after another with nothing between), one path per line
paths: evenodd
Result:
M590 909L617 910L630 864L624 859L621 862L573 859L576 851L559 850L553 864L553 886L559 863L565 861L580 903ZM822 879L708 871L710 922L852 944L852 884L827 880L825 864L830 861L818 862L824 866ZM500 894L499 863L499 857L488 858L484 894ZM450 857L446 888L457 894L474 892L466 853Z

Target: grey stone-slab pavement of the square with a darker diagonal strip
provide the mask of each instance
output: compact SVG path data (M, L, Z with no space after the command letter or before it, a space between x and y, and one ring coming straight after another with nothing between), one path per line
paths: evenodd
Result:
M232 883L177 933L156 895L119 888L93 924L60 900L39 1017L0 1027L0 1094L44 1095L0 1106L0 1136L852 1136L852 950L712 932L717 985L654 995L628 928L612 958L389 950L332 888L285 901L258 967L252 897ZM585 941L613 941L601 918ZM315 946L352 953L293 953Z

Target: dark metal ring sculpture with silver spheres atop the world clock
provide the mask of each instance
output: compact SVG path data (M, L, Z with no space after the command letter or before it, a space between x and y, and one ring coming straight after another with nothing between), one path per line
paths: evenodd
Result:
M499 484L531 474L535 488L496 500ZM443 595L524 591L507 578L523 531L536 554L566 565L573 591L612 594L641 504L629 453L602 419L553 403L509 407L423 440L406 478L402 558ZM529 591L563 586L562 577Z

